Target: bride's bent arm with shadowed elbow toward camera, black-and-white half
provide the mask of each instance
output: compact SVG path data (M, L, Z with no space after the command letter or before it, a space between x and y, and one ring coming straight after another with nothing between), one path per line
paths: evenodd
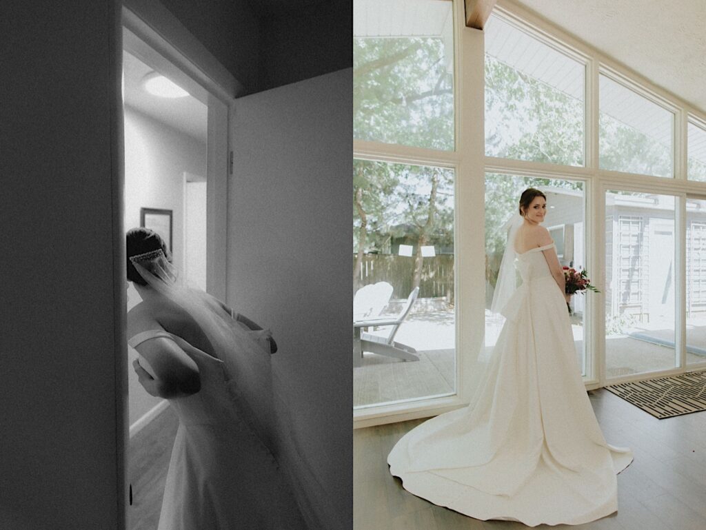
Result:
M150 363L154 377L140 366L138 359L133 368L140 384L148 394L170 399L196 394L201 390L201 375L196 362L167 337L156 337L138 344L138 353Z

